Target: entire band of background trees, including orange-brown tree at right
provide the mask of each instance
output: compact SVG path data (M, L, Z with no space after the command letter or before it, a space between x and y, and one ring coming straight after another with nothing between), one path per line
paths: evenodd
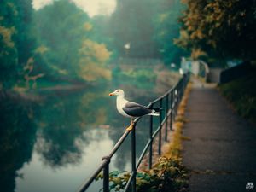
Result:
M255 0L182 2L117 0L112 15L90 17L68 0L38 10L32 0L3 0L0 87L108 81L108 63L126 57L158 58L167 66L189 54L210 63L255 60Z

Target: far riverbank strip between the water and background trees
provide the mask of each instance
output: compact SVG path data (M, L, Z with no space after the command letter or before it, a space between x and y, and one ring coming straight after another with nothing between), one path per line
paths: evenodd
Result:
M171 78L170 78L171 77ZM177 84L180 74L171 71L165 66L142 68L139 70L129 69L128 71L119 70L113 73L113 79L108 81L82 82L73 79L38 79L35 84L13 87L10 90L0 90L0 101L4 98L17 101L40 101L44 96L58 94L70 94L79 90L101 89L111 91L114 89L130 90L129 95L133 98L137 96L152 95L159 96ZM149 84L148 84L149 83ZM146 103L145 103L146 104Z

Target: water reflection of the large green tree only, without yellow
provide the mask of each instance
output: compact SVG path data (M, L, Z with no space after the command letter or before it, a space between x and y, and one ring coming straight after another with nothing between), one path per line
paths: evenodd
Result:
M42 104L38 118L36 151L44 164L51 167L79 163L81 151L76 139L83 136L76 111L79 101L51 96Z

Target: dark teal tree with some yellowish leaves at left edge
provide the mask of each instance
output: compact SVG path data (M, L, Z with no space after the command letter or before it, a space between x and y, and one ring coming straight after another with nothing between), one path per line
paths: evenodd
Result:
M3 0L0 6L0 88L23 80L23 67L34 46L32 1Z

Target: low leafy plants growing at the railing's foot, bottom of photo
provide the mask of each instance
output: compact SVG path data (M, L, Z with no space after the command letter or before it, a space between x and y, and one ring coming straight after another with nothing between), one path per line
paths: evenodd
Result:
M110 189L113 191L125 189L130 176L130 172L110 172ZM102 178L102 174L97 177L99 178ZM181 165L180 160L161 157L152 169L137 172L136 187L138 192L175 192L188 185L187 178L187 171Z

